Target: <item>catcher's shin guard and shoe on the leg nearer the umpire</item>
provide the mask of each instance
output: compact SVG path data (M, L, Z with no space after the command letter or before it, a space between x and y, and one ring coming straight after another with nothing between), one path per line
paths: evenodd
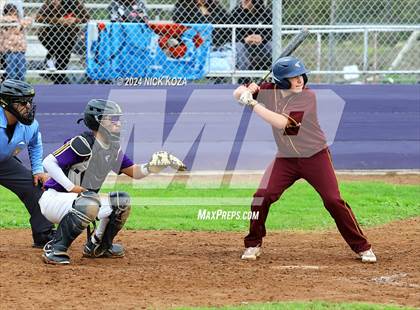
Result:
M49 264L69 264L67 249L83 230L95 220L100 207L99 195L84 192L74 201L73 208L57 227L57 233L51 245L44 247L43 258Z

